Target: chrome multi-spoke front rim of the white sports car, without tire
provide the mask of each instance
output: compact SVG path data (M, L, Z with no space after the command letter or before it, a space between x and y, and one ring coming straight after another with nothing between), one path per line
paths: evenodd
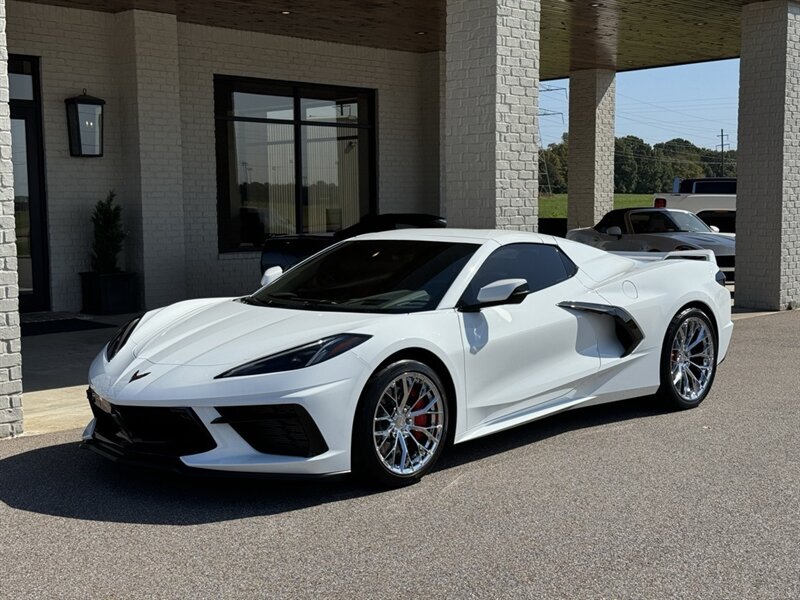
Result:
M383 466L395 475L425 468L442 443L444 401L422 373L395 377L381 393L373 418L373 443Z

